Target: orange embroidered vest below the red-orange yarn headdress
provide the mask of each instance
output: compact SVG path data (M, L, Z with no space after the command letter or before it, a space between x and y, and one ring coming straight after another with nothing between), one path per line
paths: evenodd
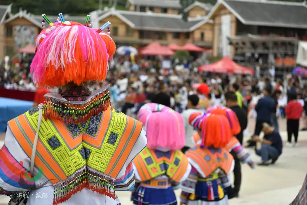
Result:
M185 156L194 161L207 177L211 175L216 169L222 169L226 174L230 172L233 156L224 148L200 148L195 147L185 153ZM193 164L192 164L193 166Z

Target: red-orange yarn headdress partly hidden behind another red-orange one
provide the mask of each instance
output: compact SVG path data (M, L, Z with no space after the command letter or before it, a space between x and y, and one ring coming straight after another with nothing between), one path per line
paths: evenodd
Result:
M207 113L223 115L227 117L232 135L237 135L240 133L241 126L239 123L239 119L232 109L223 106L212 106L207 108Z

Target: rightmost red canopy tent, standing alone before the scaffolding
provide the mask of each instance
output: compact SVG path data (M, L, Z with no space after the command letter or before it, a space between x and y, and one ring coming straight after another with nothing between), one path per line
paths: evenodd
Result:
M198 68L199 72L212 72L212 73L232 73L232 74L245 74L254 75L255 71L252 68L247 68L235 63L230 57L226 56L223 59L211 63L209 65L202 65Z

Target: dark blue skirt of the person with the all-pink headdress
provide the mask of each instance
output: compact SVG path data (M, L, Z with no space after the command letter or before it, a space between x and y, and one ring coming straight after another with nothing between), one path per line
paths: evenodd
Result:
M177 205L176 195L172 187L155 189L142 186L139 186L135 192L134 204L139 204L138 198L142 190L144 190L142 205Z

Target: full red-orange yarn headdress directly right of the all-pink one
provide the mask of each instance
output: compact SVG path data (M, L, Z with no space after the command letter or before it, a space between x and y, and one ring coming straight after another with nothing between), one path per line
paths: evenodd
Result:
M201 131L201 148L223 148L232 136L230 124L227 118L222 115L203 112L192 113L189 116L189 124Z

